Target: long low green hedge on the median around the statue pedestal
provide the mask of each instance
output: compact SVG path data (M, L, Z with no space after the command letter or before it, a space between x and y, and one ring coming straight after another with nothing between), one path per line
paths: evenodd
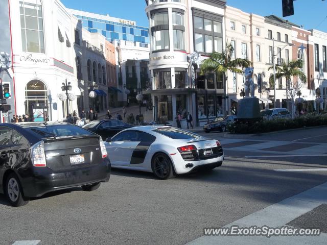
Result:
M230 133L234 134L258 134L322 125L327 126L327 114L318 115L310 113L305 116L298 116L294 119L276 118L273 120L258 121L253 124L239 122L228 125L227 129Z

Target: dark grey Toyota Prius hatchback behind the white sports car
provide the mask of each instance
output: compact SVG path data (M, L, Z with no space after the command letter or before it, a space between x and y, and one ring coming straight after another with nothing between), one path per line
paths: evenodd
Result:
M54 190L91 191L110 178L98 135L65 122L0 124L0 193L13 206Z

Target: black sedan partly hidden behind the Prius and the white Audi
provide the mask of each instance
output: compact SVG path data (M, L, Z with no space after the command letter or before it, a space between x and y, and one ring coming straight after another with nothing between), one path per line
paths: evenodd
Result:
M103 140L112 137L124 129L134 127L126 122L116 119L94 120L85 124L82 128L92 131L102 137Z

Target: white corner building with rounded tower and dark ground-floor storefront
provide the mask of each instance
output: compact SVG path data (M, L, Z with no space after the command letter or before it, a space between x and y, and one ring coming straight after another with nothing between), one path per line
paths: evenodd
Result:
M224 1L154 1L147 2L150 25L150 64L154 118L176 126L181 114L193 115L196 125L221 113L224 88L214 73L201 76L196 70L192 81L188 54L197 52L201 60L213 51L221 52L224 42Z

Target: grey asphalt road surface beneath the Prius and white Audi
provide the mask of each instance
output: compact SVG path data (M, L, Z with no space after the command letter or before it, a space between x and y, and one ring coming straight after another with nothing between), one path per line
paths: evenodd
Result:
M326 132L318 128L245 140L293 143L310 136L301 142L318 144L326 142ZM223 146L228 140L219 133L209 135L222 139ZM160 181L149 173L113 170L110 181L96 191L54 192L20 208L10 207L0 195L0 244L184 244L202 236L204 227L224 226L327 182L327 171L276 171L324 168L326 156L260 157L262 152L225 145L227 157L212 171Z

